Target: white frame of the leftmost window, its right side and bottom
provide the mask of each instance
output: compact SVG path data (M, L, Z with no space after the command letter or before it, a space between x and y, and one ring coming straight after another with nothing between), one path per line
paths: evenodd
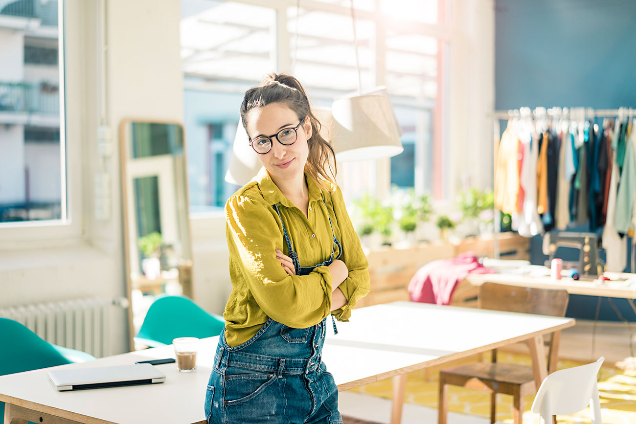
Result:
M0 223L0 249L74 245L83 235L81 81L83 34L79 0L58 0L60 91L60 170L62 217L43 221ZM67 125L67 123L76 123Z

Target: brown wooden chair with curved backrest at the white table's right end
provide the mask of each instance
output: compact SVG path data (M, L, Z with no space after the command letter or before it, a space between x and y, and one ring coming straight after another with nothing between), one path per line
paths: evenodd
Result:
M483 309L565 316L569 295L565 290L530 289L512 285L484 283L480 287L479 307ZM488 329L484 329L488 331ZM548 374L556 370L560 331L548 341ZM522 424L523 396L536 393L532 367L497 362L497 350L492 351L492 363L477 363L443 369L439 372L438 423L446 424L448 385L464 386L491 393L490 422L495 422L497 393L513 396L513 421ZM556 423L556 420L554 420Z

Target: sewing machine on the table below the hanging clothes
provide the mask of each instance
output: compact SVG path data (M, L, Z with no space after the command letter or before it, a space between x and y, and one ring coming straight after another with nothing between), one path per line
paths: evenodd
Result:
M548 252L544 249L543 253L550 256L550 263L559 247L579 249L579 261L563 261L564 270L576 268L581 277L590 278L596 278L604 271L603 261L598 257L598 237L595 233L550 232L544 235L543 245L548 247ZM550 263L547 265L550 266Z

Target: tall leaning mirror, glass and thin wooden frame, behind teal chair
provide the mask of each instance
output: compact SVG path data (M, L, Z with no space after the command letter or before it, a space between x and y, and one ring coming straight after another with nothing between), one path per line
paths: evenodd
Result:
M130 334L134 335L156 296L192 297L186 153L179 123L125 120L120 143Z

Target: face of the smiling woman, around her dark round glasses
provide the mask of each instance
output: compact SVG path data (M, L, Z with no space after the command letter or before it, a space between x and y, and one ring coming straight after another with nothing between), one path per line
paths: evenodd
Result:
M247 135L254 140L269 137L283 128L294 128L300 120L298 115L282 103L271 103L264 107L255 107L247 113ZM286 146L276 137L271 137L272 149L258 154L267 172L275 180L291 180L303 175L309 147L307 140L312 136L312 127L308 119L298 127L296 142Z

